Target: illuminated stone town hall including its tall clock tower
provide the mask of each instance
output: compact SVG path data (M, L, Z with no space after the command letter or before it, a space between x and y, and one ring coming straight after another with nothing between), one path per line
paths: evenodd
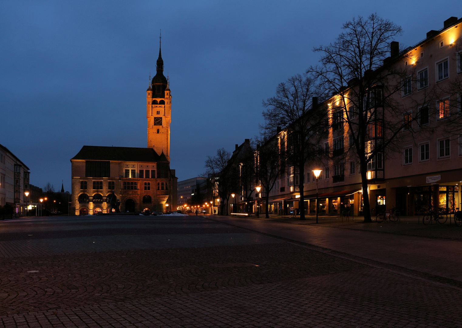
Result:
M177 178L170 170L171 94L160 49L156 71L146 90L147 148L83 146L71 159L76 215L107 213L112 193L122 212L176 208Z

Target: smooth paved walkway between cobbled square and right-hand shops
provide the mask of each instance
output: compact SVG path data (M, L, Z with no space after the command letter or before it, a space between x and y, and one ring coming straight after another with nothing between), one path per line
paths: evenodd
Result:
M338 223L336 217L328 217L319 219L321 224L318 225L316 218L313 220L311 217L306 221L288 222L232 216L207 218L421 273L462 281L462 240L459 240L462 239L462 227L449 225L449 218L448 223L444 225L418 225L417 218L413 217L401 218L401 223L397 224L353 221Z

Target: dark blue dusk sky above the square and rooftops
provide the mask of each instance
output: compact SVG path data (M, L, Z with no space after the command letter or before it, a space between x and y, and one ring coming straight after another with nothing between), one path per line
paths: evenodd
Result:
M0 144L30 182L70 190L83 145L146 147L146 88L159 30L170 75L170 167L258 133L261 100L316 64L353 16L377 12L410 46L460 17L459 1L0 1Z

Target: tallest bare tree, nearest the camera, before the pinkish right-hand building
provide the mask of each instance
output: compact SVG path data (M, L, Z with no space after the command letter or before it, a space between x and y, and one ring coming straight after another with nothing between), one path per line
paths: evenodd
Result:
M318 79L324 92L332 95L332 130L339 130L336 134L348 140L347 151L343 151L346 140L341 139L337 148L341 151L333 155L347 155L359 161L363 213L365 222L371 222L368 183L384 178L383 163L388 152L400 149L399 143L405 138L412 140L412 121L417 116L403 114L418 104L428 103L432 92L426 90L429 94L424 97L401 101L403 93L412 97L416 87L408 79L415 73L415 66L404 68L404 61L413 58L412 49L400 52L398 43L393 42L395 36L402 34L401 26L371 14L368 18L353 18L342 29L334 43L314 49L321 53L320 65L310 67L306 73ZM396 65L397 62L402 65ZM403 134L403 130L411 131ZM368 170L372 172L369 179Z

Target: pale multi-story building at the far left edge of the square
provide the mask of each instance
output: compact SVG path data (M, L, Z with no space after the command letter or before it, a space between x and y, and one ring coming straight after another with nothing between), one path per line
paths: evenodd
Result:
M29 168L5 146L0 145L0 206L16 207L28 201ZM23 212L18 208L17 211Z

